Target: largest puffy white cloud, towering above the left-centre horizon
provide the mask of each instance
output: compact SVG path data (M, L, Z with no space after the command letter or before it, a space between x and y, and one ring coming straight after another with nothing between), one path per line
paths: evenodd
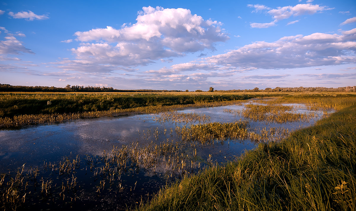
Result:
M229 39L220 28L221 22L204 20L188 9L143 7L136 20L135 24L124 24L120 29L107 26L75 32L76 40L82 43L71 49L76 60L69 61L68 65L103 67L109 64L112 65L109 68L96 70L112 71L117 67L148 65L161 59L169 62L170 57L189 52L214 51L216 42Z

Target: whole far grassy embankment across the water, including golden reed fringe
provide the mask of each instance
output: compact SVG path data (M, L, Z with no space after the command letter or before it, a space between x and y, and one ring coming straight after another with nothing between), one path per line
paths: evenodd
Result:
M0 93L0 128L219 106L268 93Z

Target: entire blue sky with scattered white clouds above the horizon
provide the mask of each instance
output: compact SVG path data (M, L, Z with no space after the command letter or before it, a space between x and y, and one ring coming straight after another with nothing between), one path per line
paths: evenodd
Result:
M355 0L1 1L0 83L356 86Z

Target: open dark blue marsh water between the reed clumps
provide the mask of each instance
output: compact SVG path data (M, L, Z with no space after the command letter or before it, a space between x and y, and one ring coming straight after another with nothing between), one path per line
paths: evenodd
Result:
M209 122L235 122L239 120L248 120L249 127L257 133L262 128L285 128L289 132L308 127L323 117L321 111L310 111L303 104L286 104L294 107L297 113L314 112L315 117L308 121L299 122L254 122L251 119L245 119L241 115L234 115L226 112L226 109L241 110L245 106L228 105L211 108L187 108L178 110L178 113L196 113L209 116ZM63 160L64 157L73 158L79 155L100 156L104 152L110 152L115 147L137 143L144 146L147 144L159 144L164 141L178 141L179 135L174 128L187 124L185 122L164 120L158 121L161 114L140 114L121 117L102 117L95 119L80 119L70 122L49 125L30 125L21 129L1 130L0 131L0 173L15 172L17 168L24 165L25 169L38 166L42 169L46 163L56 163ZM199 121L192 121L191 124L198 124ZM163 133L163 131L167 131ZM157 132L157 135L153 135ZM245 150L251 150L258 145L251 140L225 140L215 141L213 144L199 145L196 147L196 157L194 161L199 161L199 168L209 166L211 163L224 163L234 160L244 153ZM189 154L189 148L186 152ZM182 153L183 154L183 153ZM191 154L191 152L190 152ZM187 155L188 156L188 155ZM99 164L98 164L99 165ZM141 166L142 167L142 166ZM84 167L83 167L84 168ZM120 177L120 184L123 189L117 186L110 186L109 190L98 191L98 181L92 181L87 175L87 171L76 174L77 180L82 181L78 187L77 200L66 201L65 204L59 204L51 207L53 204L36 201L37 204L47 209L73 208L80 210L120 210L130 206L135 206L141 200L145 201L150 194L159 190L160 187L181 176L182 172L177 172L175 176L167 177L167 171L155 168L150 171L140 166L135 171L124 171ZM194 171L192 171L194 173ZM169 172L172 175L172 172ZM37 206L36 205L36 206Z

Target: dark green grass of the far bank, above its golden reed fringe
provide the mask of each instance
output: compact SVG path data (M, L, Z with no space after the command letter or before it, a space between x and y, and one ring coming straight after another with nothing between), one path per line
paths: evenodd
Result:
M243 94L156 94L156 93L0 93L0 117L21 114L62 114L127 109L147 106L186 105L249 99Z

